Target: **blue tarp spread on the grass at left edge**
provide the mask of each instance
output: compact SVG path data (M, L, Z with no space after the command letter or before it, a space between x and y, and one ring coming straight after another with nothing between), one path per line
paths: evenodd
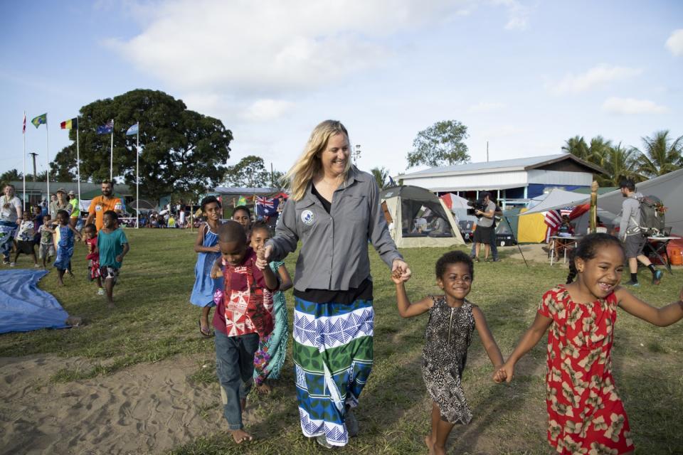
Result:
M66 328L69 317L52 294L38 289L46 270L0 272L0 333Z

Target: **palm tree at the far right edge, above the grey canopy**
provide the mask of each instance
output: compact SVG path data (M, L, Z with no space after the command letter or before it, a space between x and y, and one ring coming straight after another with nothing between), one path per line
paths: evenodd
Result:
M683 159L683 136L669 137L668 130L655 132L652 137L643 137L640 151L639 170L647 178L662 176L681 167Z

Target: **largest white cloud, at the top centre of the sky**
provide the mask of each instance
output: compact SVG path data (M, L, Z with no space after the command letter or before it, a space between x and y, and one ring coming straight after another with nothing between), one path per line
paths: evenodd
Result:
M393 33L448 20L467 1L173 0L144 9L142 33L110 39L143 73L179 90L272 97L310 90L393 55Z

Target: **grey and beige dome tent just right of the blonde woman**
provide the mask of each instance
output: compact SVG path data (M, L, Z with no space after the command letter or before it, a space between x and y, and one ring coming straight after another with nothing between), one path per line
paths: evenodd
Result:
M389 233L399 248L464 245L443 201L419 186L393 186L379 194Z

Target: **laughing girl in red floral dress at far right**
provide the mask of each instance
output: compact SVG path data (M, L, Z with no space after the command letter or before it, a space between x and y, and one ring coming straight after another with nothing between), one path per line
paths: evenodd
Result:
M547 291L536 319L494 380L510 382L514 365L548 333L548 439L560 454L630 454L624 405L612 375L617 307L655 326L683 318L679 301L655 308L619 286L625 255L616 237L591 234L579 242L572 266L578 279Z

